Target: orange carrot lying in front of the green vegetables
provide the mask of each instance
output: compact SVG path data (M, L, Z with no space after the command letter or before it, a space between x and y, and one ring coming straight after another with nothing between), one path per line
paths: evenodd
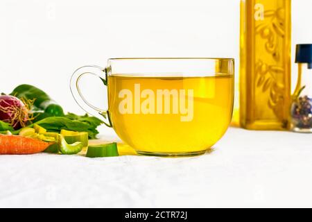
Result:
M44 151L51 142L17 135L0 135L1 154L33 154Z

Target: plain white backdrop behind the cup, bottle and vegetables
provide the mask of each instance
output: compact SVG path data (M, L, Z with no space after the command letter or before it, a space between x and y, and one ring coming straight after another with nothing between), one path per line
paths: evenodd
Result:
M239 0L1 0L0 91L22 83L83 113L69 78L83 65L116 57L231 57L239 70ZM312 42L311 0L293 1L295 44ZM293 62L293 86L296 81ZM87 85L104 103L101 83ZM86 91L86 90L85 90Z

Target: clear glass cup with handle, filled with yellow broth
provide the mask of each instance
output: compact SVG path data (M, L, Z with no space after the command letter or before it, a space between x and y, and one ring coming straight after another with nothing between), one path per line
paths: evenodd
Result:
M107 87L108 110L81 93L83 76ZM71 78L74 99L114 128L139 154L200 155L223 136L232 119L234 59L112 58L107 67L85 66Z

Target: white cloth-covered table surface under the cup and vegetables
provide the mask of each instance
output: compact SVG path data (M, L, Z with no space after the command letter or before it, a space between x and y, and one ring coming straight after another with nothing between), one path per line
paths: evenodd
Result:
M312 207L312 135L229 128L186 158L2 155L0 207Z

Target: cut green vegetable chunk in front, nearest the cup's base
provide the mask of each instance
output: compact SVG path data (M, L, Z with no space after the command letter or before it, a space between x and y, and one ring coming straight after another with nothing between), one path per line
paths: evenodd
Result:
M89 146L86 157L116 157L119 156L117 144L100 144Z

